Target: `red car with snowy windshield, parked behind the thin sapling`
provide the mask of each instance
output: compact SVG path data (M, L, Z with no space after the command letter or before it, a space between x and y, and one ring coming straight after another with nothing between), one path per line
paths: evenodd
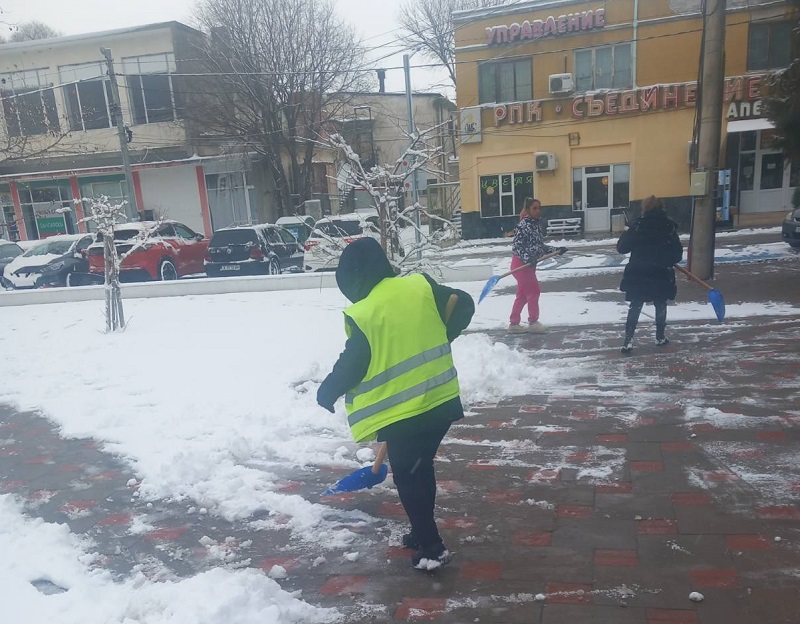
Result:
M205 272L208 240L183 223L123 223L115 228L114 241L120 257L130 252L120 265L120 279L125 281L174 280ZM103 235L99 232L86 255L89 272L103 275Z

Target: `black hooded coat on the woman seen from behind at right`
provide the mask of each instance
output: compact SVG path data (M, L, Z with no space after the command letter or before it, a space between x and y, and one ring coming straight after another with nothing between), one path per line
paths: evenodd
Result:
M617 241L617 251L631 254L620 290L626 301L667 301L678 292L672 265L681 261L678 226L661 208L653 208L630 224Z

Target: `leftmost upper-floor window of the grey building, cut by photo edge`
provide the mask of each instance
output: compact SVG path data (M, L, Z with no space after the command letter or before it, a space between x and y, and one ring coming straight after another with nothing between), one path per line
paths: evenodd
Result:
M44 69L0 74L0 98L10 137L60 130L56 96Z

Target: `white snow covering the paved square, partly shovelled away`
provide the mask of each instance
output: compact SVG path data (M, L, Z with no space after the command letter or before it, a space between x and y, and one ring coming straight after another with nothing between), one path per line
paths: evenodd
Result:
M765 253L784 250L754 245L724 255ZM541 277L621 272L606 261L603 254L573 254L541 267ZM507 259L492 263L506 270ZM483 284L454 286L477 300ZM572 388L574 360L545 365L483 333L505 327L512 298L492 293L478 307L472 333L454 343L467 404L535 391L532 380L550 390ZM280 492L277 472L320 464L355 469L368 459L355 454L341 403L329 414L314 401L344 343L346 304L332 289L128 300L127 330L110 335L101 332L98 302L4 308L0 402L40 410L62 436L92 437L126 459L145 499L189 497L231 520L266 507L290 518L296 539L341 546L317 539L327 507ZM622 297L589 302L585 292L545 293L542 306L555 325L617 324L625 313ZM767 313L800 310L769 302L727 307L730 318ZM713 312L678 303L670 319L711 322ZM0 552L0 604L8 622L263 624L337 617L252 569L167 584L140 576L119 582L91 566L91 544L66 525L27 519L10 495L0 496ZM30 583L42 577L70 591L46 596Z

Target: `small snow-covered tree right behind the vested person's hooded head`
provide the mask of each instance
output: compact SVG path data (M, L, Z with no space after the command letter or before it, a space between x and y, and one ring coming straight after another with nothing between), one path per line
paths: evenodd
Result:
M418 268L422 252L441 246L445 240L455 237L453 225L441 217L430 214L419 202L401 207L408 181L415 172L425 172L429 176L441 175L436 170L442 151L435 139L442 127L433 126L427 130L416 131L411 144L393 164L376 165L365 169L361 158L339 134L331 135L329 143L340 157L349 165L346 184L352 188L366 191L377 210L380 223L381 246L390 261L397 267ZM421 217L418 219L417 217ZM428 227L418 227L416 223L427 220ZM414 234L414 241L403 241L404 231ZM331 239L335 241L335 239Z

